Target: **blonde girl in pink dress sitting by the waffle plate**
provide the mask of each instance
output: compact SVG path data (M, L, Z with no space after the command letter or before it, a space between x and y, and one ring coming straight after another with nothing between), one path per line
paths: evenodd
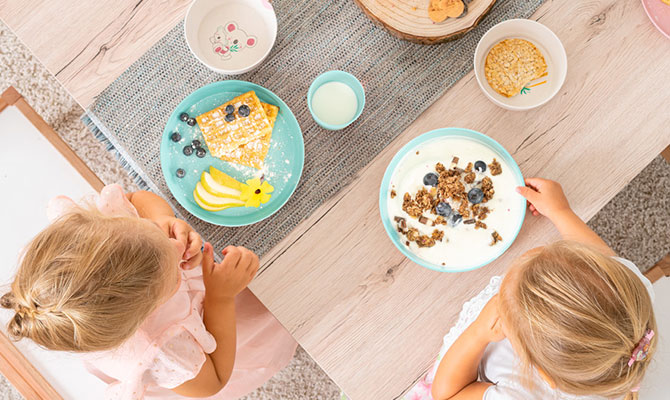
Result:
M59 197L1 305L8 332L80 352L107 399L234 399L293 356L295 341L246 288L258 257L213 249L149 192Z

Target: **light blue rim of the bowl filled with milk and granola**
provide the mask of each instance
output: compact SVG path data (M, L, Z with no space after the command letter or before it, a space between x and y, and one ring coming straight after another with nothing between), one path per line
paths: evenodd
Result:
M504 243L504 247L498 253L496 256L493 258L487 260L486 262L483 262L479 265L473 266L473 267L467 267L467 268L446 268L441 265L433 264L427 260L424 260L423 258L417 256L414 254L412 251L410 251L407 246L403 245L403 243L400 241L400 235L398 235L398 232L396 229L393 227L393 223L391 222L391 219L388 217L388 208L387 208L387 201L388 201L388 193L389 193L389 185L391 183L391 178L393 177L393 174L395 173L396 168L398 167L398 164L405 158L405 156L414 149L425 142L438 139L438 138L444 138L444 137L462 137L465 139L470 139L470 140L476 140L479 143L487 146L493 152L498 153L501 159L503 159L507 165L509 165L512 168L512 172L514 173L514 176L516 177L517 184L519 186L524 186L525 182L523 179L523 175L521 174L521 170L519 169L519 166L517 165L516 161L514 161L514 158L505 150L503 146L500 145L500 143L496 142L489 136L484 135L483 133L473 131L471 129L465 129L465 128L439 128L432 130L430 132L426 132L420 136L415 137L412 139L410 142L408 142L406 145L404 145L396 154L393 156L393 159L389 163L388 167L386 167L386 172L384 173L384 178L382 179L381 186L379 188L379 213L380 217L382 220L382 224L384 225L384 230L386 231L386 234L388 235L389 239L391 239L391 242L395 245L395 247L400 250L400 252L405 255L405 257L409 258L411 261L413 261L416 264L419 264L420 266L428 269L432 269L433 271L438 271L438 272L467 272L467 271L472 271L481 267L484 267L493 261L495 261L497 258L505 254L507 249L514 243L516 240L517 236L519 235L519 232L521 231L521 226L523 225L523 221L526 217L526 200L519 195L519 207L522 207L524 210L523 213L521 213L521 218L519 219L517 223L517 228L516 232L514 233L514 237L512 240L506 240ZM439 161L439 160L436 160Z

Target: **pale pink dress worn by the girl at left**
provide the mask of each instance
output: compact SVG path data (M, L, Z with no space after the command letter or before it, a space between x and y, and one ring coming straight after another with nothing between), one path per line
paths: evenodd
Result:
M109 215L139 217L118 185L90 199ZM49 204L57 218L74 204L56 197ZM205 286L200 267L182 271L177 292L159 306L128 341L114 350L85 355L88 369L109 386L106 399L185 399L175 388L193 379L216 349L202 320ZM263 385L293 358L297 343L248 289L235 299L237 353L228 384L209 399L236 399Z

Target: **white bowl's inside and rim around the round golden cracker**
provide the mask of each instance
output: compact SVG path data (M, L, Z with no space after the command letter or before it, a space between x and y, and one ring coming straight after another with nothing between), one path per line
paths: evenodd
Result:
M493 46L512 38L528 40L542 52L547 63L547 76L531 82L532 87L524 90L524 93L505 97L489 85L484 74L484 63ZM558 36L541 23L528 19L510 19L489 29L477 44L474 64L477 82L486 97L500 107L515 111L539 107L551 100L563 86L568 72L568 58Z

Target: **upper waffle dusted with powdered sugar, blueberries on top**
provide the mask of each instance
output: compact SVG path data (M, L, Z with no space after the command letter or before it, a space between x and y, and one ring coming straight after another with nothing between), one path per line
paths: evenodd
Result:
M249 106L248 117L239 115L238 109L242 104ZM228 105L235 107L235 120L232 122L224 119L226 117L224 110ZM198 115L195 119L198 121L209 152L215 157L221 157L228 151L272 133L270 121L253 90Z

